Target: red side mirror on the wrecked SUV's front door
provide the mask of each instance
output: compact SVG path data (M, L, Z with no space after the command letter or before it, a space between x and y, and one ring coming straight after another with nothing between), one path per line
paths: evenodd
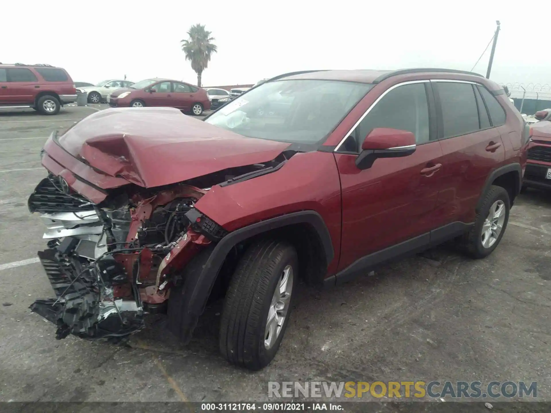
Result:
M412 132L375 128L361 144L356 166L359 169L369 169L379 157L408 156L415 152L415 147L415 135Z

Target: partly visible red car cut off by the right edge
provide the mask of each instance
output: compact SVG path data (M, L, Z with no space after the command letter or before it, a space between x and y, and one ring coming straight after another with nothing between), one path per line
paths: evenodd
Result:
M530 124L530 146L523 187L551 189L551 109L536 112Z

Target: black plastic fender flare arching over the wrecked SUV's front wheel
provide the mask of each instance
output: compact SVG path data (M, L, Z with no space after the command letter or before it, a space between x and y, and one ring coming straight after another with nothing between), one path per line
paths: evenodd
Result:
M231 248L263 232L293 224L310 224L314 227L325 250L326 263L329 264L333 260L331 235L321 215L313 210L280 215L230 232L215 246L207 247L193 258L183 271L183 286L171 289L169 329L172 333L179 336L184 343L190 341L193 329L204 311L210 291Z

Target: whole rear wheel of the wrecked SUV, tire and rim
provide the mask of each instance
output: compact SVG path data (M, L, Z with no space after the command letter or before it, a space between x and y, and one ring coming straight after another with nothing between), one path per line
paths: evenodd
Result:
M498 246L509 222L509 193L490 186L471 230L463 238L467 253L473 258L489 256Z

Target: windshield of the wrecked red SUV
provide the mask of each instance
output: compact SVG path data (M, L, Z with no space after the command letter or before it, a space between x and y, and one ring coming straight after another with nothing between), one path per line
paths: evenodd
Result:
M272 81L237 97L205 122L251 138L317 143L372 87L333 80Z

